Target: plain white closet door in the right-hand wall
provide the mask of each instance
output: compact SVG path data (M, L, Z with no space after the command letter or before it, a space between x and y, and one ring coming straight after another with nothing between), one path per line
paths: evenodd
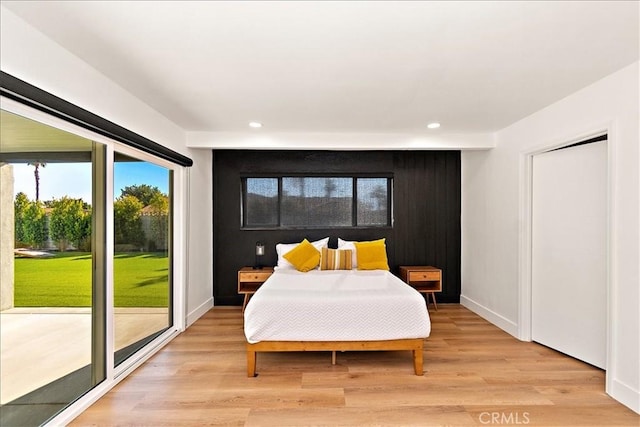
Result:
M606 365L607 142L533 158L532 338Z

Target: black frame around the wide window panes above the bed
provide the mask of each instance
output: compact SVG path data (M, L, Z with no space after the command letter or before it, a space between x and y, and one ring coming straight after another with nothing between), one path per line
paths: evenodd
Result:
M352 204L351 225L283 225L282 224L282 180L284 178L351 178L352 179ZM387 180L387 221L384 225L366 224L358 225L358 179L379 178ZM271 225L247 225L247 179L277 179L278 180L278 212L277 224ZM393 174L256 174L240 176L240 228L242 230L313 230L313 229L385 229L393 228Z

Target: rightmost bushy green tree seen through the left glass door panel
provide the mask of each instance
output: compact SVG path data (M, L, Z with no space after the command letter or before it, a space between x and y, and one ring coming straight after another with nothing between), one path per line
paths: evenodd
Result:
M84 208L82 199L71 199L67 196L51 203L49 219L51 238L58 242L60 251L65 251L69 244L76 247L91 232L91 214Z

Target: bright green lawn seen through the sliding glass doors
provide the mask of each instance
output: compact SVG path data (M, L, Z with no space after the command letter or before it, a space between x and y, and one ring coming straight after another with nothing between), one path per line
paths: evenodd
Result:
M116 254L116 307L167 307L169 258L165 254ZM16 258L15 307L90 307L91 254Z

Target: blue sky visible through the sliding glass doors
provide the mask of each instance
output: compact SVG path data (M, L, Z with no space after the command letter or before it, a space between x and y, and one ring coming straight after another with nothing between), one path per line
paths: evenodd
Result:
M19 192L29 200L36 198L34 167L13 164L14 196ZM90 163L48 163L40 167L40 200L60 199L68 196L91 204ZM147 184L158 187L167 194L169 188L168 169L147 162L118 162L115 164L114 198L124 187Z

